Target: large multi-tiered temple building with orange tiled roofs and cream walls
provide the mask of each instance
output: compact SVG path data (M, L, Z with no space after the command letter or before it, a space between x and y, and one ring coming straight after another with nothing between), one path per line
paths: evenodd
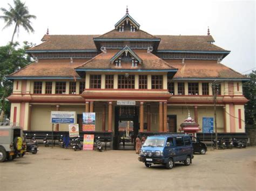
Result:
M123 121L131 122L134 135L179 132L189 111L201 132L216 100L218 132L245 132L242 83L248 79L221 64L230 51L214 45L209 30L205 36L152 35L126 10L105 34L47 32L26 52L35 62L8 76L11 122L24 130L50 131L57 110L76 111L80 131L83 112L96 112L96 131L113 136Z

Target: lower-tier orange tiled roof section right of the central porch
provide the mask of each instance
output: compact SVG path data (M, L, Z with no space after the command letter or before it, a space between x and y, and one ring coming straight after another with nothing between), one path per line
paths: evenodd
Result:
M166 60L168 62L168 60ZM171 66L178 68L174 75L176 78L224 78L224 79L247 79L245 75L235 72L233 69L221 63L169 63Z

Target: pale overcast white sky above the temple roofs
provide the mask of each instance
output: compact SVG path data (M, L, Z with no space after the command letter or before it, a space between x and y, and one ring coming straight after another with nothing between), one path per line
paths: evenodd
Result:
M207 27L215 45L231 53L221 61L239 73L256 70L255 1L164 1L164 0L22 0L29 8L35 33L19 30L15 41L40 44L49 27L50 34L104 34L125 15L126 5L140 29L153 34L206 35ZM12 0L1 0L8 9ZM0 15L3 13L0 11ZM6 45L14 25L3 29L0 20L0 46Z

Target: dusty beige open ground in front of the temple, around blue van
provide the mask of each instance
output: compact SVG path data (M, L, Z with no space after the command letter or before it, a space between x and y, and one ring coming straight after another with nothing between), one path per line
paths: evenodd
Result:
M0 190L256 190L256 147L194 155L190 166L146 168L134 151L39 147L0 163Z

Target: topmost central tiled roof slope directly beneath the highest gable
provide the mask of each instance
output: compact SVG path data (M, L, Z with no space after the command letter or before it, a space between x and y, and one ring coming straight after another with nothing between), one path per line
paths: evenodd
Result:
M159 39L143 30L136 30L135 32L124 31L119 32L118 30L112 30L105 34L102 34L95 39Z

